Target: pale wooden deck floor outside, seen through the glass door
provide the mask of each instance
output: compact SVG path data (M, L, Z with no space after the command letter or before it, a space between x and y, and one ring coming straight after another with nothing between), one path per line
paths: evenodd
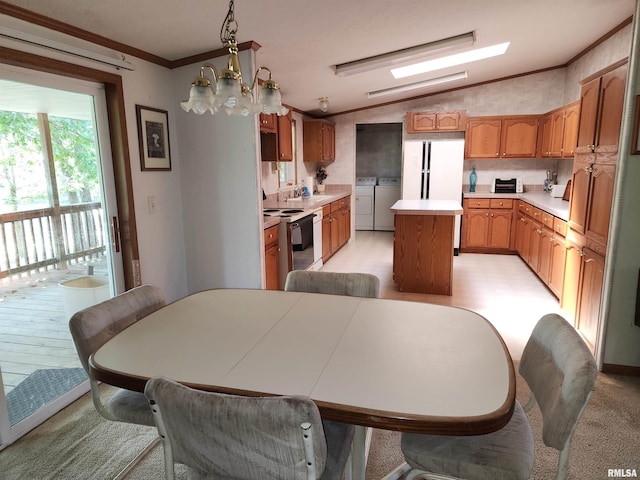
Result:
M69 333L63 287L88 273L106 275L105 260L64 270L0 279L0 367L5 394L38 369L81 367Z

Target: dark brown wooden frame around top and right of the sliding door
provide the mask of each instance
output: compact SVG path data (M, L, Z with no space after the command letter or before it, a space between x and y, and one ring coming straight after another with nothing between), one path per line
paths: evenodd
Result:
M104 85L120 233L117 241L120 243L122 252L124 287L125 290L129 290L140 285L140 254L122 77L2 46L0 46L0 63Z

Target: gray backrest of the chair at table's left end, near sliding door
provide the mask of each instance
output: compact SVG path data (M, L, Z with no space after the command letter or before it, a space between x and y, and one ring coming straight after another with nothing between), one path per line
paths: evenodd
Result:
M164 307L162 291L141 285L73 314L69 329L87 375L89 357L112 337L143 317Z

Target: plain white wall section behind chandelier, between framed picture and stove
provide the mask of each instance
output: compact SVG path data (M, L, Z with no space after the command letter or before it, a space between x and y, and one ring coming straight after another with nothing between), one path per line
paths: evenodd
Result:
M252 51L240 52L242 71L254 72ZM218 69L225 58L213 59ZM179 105L200 64L172 72ZM176 109L180 138L181 192L187 290L260 288L264 239L259 193L256 116L196 115ZM261 195L261 192L260 192Z

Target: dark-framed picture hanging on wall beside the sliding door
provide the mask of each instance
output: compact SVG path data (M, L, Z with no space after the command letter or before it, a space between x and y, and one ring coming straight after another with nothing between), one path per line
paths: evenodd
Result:
M136 105L140 167L148 170L171 170L169 115L166 110Z

